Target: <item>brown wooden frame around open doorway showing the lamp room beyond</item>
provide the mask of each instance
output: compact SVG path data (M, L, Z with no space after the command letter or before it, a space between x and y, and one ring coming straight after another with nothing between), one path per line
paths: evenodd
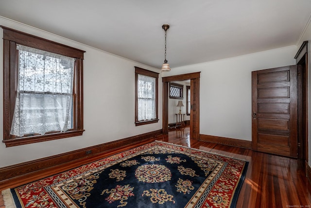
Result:
M172 81L181 81L190 79L190 138L199 139L200 127L200 72L166 76L162 77L163 82L163 114L162 114L162 129L163 133L169 132L168 128L168 97L169 83Z

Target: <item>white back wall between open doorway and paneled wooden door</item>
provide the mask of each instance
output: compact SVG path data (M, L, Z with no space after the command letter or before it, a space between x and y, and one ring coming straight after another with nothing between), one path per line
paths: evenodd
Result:
M251 72L294 65L297 47L172 68L163 76L200 75L200 133L252 140Z

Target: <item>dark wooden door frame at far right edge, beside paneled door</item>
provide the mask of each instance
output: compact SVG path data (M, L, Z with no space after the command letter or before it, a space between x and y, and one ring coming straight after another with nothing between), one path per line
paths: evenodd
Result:
M295 57L296 64L301 66L301 76L298 82L298 102L301 102L302 112L298 112L298 159L304 160L306 165L309 162L309 114L308 114L308 41L304 41Z

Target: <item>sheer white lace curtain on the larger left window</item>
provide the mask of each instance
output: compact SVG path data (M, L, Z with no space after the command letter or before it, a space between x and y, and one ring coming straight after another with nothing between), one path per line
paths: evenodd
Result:
M17 45L18 86L11 134L72 128L74 58Z

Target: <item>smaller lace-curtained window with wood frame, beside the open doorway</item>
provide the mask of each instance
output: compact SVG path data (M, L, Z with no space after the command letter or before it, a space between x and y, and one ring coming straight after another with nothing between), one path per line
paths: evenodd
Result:
M135 67L135 125L158 122L158 73Z

